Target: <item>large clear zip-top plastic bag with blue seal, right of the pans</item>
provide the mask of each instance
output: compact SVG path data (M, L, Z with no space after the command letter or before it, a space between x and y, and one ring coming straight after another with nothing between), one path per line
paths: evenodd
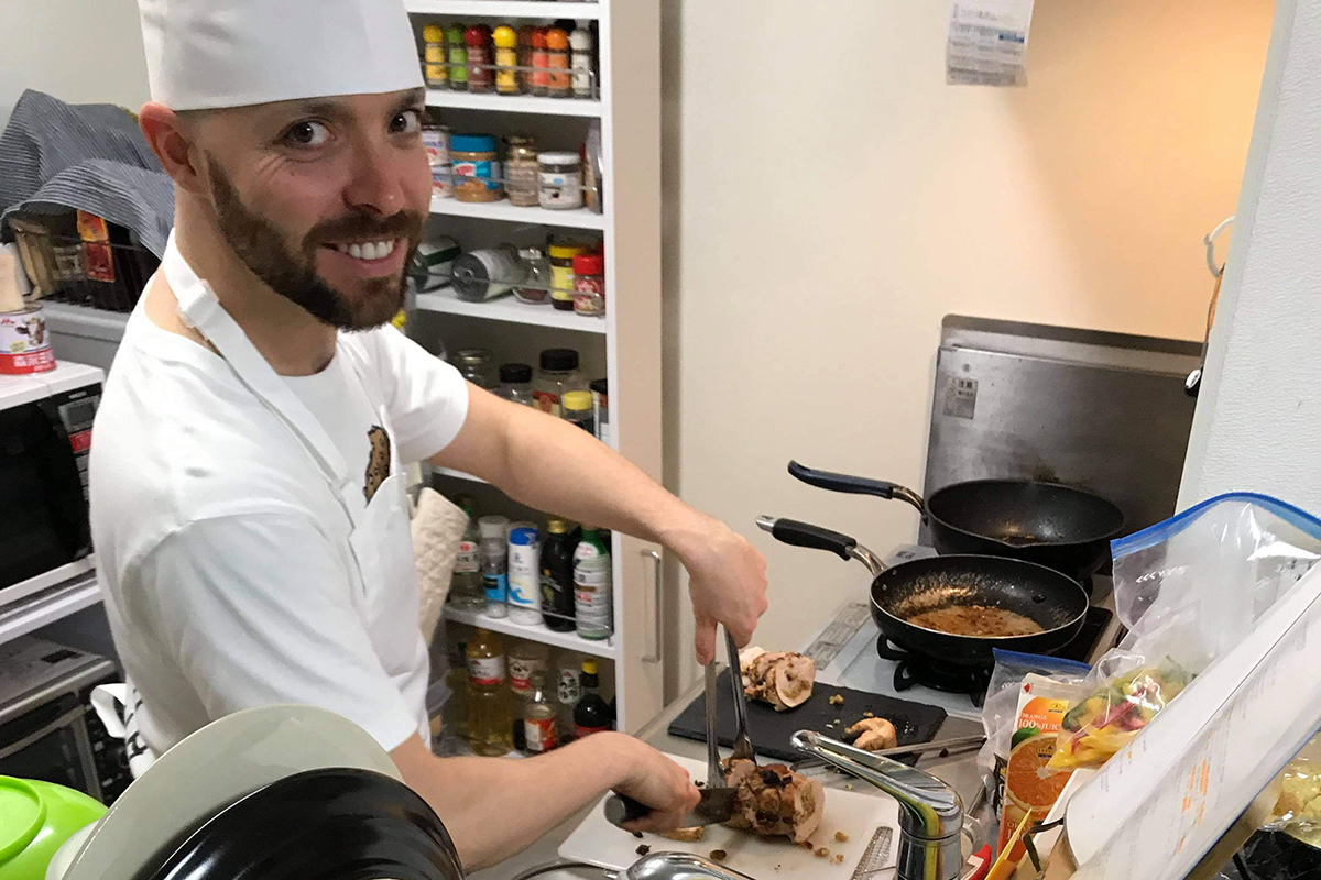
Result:
M1112 541L1128 627L1061 722L1052 769L1104 764L1201 670L1236 645L1321 559L1321 520L1247 492L1221 495Z

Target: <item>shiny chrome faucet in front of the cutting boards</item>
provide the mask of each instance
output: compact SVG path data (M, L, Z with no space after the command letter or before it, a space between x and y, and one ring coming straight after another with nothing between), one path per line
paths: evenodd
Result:
M798 731L794 748L871 782L900 802L900 880L958 880L963 867L963 801L925 770L864 752L815 731Z

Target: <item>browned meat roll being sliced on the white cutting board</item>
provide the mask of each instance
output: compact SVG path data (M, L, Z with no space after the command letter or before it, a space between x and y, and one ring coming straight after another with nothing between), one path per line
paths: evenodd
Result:
M816 780L783 764L757 767L746 759L725 759L725 782L738 789L738 805L725 825L764 838L786 836L802 843L816 831L826 809L826 789Z

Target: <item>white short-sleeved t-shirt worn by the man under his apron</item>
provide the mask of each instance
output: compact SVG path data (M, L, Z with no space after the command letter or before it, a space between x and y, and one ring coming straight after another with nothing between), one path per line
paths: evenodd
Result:
M388 437L353 363L367 364ZM326 371L288 384L363 487L383 478L370 459L382 439L417 462L468 414L458 372L390 326L339 334ZM416 583L361 595L350 525L293 431L223 359L141 306L106 383L90 472L106 610L153 752L271 703L336 711L386 749L425 736Z

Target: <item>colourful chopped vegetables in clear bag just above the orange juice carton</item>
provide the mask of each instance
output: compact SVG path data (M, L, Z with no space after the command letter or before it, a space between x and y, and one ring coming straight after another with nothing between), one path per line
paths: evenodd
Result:
M1174 699L1192 676L1169 657L1111 650L1083 683L1083 699L1059 722L1048 768L1071 770L1104 764Z

